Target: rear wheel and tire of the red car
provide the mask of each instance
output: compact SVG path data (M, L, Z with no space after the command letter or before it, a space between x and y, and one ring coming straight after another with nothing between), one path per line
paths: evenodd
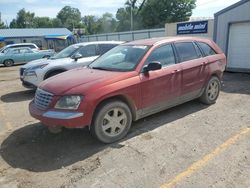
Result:
M221 89L221 82L218 77L213 76L208 81L200 101L204 104L214 104L219 96Z

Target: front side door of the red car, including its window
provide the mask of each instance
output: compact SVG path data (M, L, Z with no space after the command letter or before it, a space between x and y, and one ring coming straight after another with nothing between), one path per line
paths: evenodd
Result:
M181 93L181 68L176 64L171 44L156 48L145 65L157 61L162 69L140 74L143 114L157 112L178 101ZM144 66L145 66L144 65Z

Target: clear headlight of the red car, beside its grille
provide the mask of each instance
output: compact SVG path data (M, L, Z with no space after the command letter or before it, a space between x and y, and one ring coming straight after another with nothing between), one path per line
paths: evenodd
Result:
M57 101L55 108L65 110L77 110L82 99L83 96L80 95L63 96Z

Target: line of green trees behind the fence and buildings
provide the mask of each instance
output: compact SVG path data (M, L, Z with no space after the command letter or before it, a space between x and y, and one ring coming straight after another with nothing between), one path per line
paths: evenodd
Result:
M164 27L165 23L187 21L196 0L126 0L114 16L104 13L82 16L78 8L63 7L56 18L38 17L35 13L19 10L9 26L0 22L0 28L73 28L84 29L84 34L121 32Z

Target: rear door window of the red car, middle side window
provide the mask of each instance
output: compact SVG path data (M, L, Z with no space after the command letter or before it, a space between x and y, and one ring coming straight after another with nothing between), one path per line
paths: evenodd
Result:
M192 42L175 43L175 47L180 57L180 62L199 58Z

